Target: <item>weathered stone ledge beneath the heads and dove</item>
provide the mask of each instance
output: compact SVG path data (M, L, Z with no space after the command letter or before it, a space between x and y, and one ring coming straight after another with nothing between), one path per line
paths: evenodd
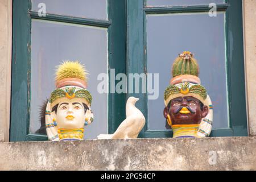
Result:
M0 170L256 170L256 137L0 143Z

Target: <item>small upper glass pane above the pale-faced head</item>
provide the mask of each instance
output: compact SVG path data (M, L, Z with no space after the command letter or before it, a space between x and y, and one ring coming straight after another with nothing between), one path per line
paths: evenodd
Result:
M108 19L107 0L32 0L32 11L41 12L43 6L40 3L44 3L46 13Z

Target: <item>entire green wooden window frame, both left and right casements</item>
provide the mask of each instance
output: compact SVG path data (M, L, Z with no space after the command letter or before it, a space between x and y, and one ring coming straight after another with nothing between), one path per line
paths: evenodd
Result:
M40 17L36 12L30 11L31 0L13 0L10 141L48 140L45 135L29 133L31 19L108 28L109 76L110 69L115 69L116 75L118 73L126 73L126 75L129 73L140 74L147 73L146 14L209 11L208 6L146 7L145 5L145 0L108 0L109 20L97 20L54 14ZM214 129L211 137L247 136L242 0L226 0L224 4L217 5L217 11L226 11L225 29L230 128ZM115 81L115 84L117 82ZM108 94L109 133L114 133L119 124L125 119L125 104L130 96L140 99L136 106L146 118L146 125L139 134L139 138L172 137L171 130L150 130L148 128L147 94L110 93L110 86ZM159 93L159 96L161 96L161 93Z

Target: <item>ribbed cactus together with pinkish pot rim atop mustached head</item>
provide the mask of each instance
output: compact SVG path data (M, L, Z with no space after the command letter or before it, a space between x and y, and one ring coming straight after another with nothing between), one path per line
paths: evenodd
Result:
M193 54L189 51L180 53L172 65L172 79L171 85L179 84L181 82L191 82L193 84L200 84L199 65Z

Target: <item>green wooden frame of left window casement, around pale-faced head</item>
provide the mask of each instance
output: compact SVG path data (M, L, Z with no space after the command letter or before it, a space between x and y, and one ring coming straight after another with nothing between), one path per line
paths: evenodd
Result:
M125 1L108 0L109 20L98 20L55 14L40 17L37 12L31 11L31 0L13 0L10 141L48 140L46 135L29 133L31 19L108 28L109 75L110 69L115 69L116 74L126 73ZM115 126L119 126L120 121L125 119L126 94L108 94L108 102L108 130L113 133L117 129Z

